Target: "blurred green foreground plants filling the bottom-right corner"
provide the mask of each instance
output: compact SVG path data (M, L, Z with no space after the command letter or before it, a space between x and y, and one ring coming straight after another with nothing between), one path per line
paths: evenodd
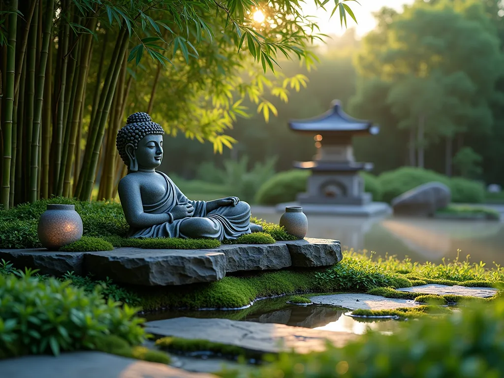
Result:
M503 338L504 301L498 300L485 306L474 304L444 317L420 317L401 325L392 335L369 331L343 348L328 345L324 352L283 353L258 369L225 369L219 375L225 378L502 376Z

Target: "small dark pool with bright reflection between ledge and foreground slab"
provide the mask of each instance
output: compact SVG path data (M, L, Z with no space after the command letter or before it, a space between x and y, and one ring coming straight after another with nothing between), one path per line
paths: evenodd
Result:
M346 316L348 309L310 304L299 306L286 303L288 297L258 300L241 310L167 310L145 314L148 321L189 318L221 318L259 323L276 323L334 332L363 334L368 328L380 332L392 332L398 322L390 319L369 320Z

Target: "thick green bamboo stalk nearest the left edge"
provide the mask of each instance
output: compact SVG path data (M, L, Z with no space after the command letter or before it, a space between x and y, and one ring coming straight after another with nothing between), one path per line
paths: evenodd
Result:
M18 9L18 0L12 0L11 8L13 11ZM1 201L5 209L9 209L11 195L11 159L12 159L12 123L14 111L14 80L16 67L16 32L18 15L13 12L9 15L9 31L7 46L7 70L6 70L6 98L3 136L3 168L2 168L2 196Z

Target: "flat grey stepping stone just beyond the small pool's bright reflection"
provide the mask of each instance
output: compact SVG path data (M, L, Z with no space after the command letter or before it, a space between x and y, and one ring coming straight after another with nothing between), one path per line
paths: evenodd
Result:
M369 309L369 310L391 310L401 307L415 307L418 303L413 300L385 298L379 295L370 294L332 294L332 295L318 295L310 297L313 303L328 304L331 306L338 306L355 309Z

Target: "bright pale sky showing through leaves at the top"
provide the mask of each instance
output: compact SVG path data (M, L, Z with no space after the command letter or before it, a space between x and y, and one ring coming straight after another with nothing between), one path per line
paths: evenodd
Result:
M351 17L347 16L348 28L355 27L357 35L363 36L372 30L376 25L372 16L373 12L379 11L385 6L401 10L404 4L412 4L413 2L414 0L359 0L360 5L352 1L346 2L346 4L354 12L358 23L358 25L355 25L355 22L351 19ZM343 34L345 31L345 25L343 24L343 28L341 28L339 12L336 11L331 20L329 20L329 16L334 8L334 2L329 2L325 7L329 12L325 12L322 9L317 10L312 1L305 0L303 11L305 15L316 16L319 19L317 23L322 33L336 35Z

